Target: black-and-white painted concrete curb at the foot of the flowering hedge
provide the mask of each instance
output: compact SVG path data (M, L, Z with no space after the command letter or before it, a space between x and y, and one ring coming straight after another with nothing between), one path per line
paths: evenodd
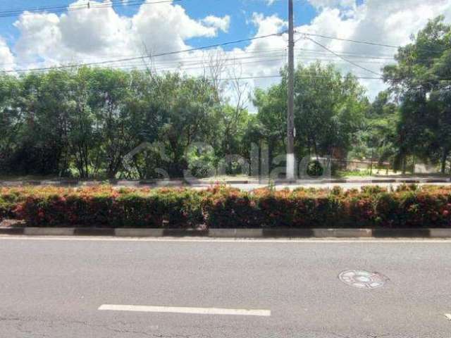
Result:
M132 229L99 227L4 227L0 234L25 236L218 237L218 238L451 238L451 229Z

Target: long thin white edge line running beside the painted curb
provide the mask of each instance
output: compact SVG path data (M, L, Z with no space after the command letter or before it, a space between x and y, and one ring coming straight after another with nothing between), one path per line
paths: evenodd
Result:
M178 238L178 237L76 237L76 236L58 236L58 237L46 237L46 236L15 236L15 235L0 235L0 240L20 240L20 241L92 241L92 242L211 242L211 243L451 243L451 239L242 239L242 238L204 238L204 237L191 237L191 238Z

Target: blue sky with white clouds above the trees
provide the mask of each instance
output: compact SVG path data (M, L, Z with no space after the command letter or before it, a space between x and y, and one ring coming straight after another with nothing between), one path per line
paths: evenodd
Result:
M294 1L296 62L335 63L343 74L363 77L359 81L370 99L385 89L377 77L384 65L394 62L397 49L339 39L400 46L437 15L451 22L451 0ZM0 70L15 74L93 62L192 75L221 70L224 83L241 79L252 94L255 87L278 82L287 60L288 0L97 0L89 1L89 8L87 2L0 0ZM312 42L299 32L339 39L309 35ZM154 56L263 35L273 36ZM152 58L138 58L143 55ZM121 61L124 58L132 60ZM233 87L225 92L233 101Z

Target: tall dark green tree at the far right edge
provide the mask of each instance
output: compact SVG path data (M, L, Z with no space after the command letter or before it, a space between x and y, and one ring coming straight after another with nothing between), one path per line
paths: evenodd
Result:
M401 47L397 64L384 68L384 79L401 105L397 162L421 156L438 161L445 173L451 152L451 26L443 20L429 21Z

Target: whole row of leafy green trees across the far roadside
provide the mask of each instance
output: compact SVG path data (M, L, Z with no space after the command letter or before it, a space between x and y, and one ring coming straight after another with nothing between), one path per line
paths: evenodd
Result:
M216 75L88 67L0 75L0 173L150 178L190 169L202 176L228 156L226 172L237 173L240 159L252 156L251 144L267 147L270 164L285 161L286 68L280 82L254 90L255 114L247 111L245 84L231 82L228 92L237 97L230 100ZM420 158L445 173L451 26L443 17L398 49L383 79L388 89L370 102L352 73L342 75L333 64L299 64L297 158L371 158L403 171Z

